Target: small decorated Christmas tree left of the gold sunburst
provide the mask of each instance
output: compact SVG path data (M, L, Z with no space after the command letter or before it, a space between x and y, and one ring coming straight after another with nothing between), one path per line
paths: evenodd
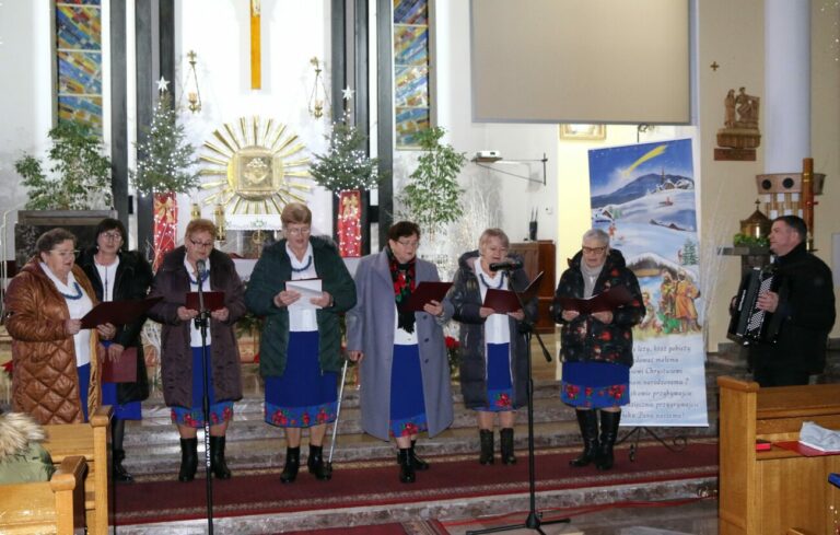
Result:
M131 173L137 190L144 195L185 194L197 187L195 149L185 139L167 91L160 92L152 124L144 131L145 141L137 146L137 171Z

